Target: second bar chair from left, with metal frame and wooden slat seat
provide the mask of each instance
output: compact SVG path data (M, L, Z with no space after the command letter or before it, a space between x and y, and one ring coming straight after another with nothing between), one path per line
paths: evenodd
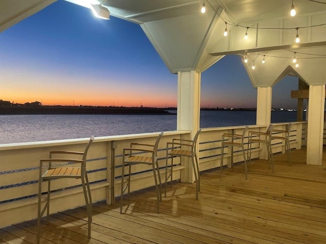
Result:
M161 139L163 133L164 132L161 132L158 135L154 145L131 143L129 148L123 149L120 213L122 213L123 194L126 191L126 189L128 189L128 197L129 197L129 193L130 193L131 165L137 165L137 164L151 165L153 168L153 175L154 175L155 188L156 188L156 197L157 197L157 213L159 213L159 203L161 202L161 199L162 199L162 197L161 197L162 192L161 192L161 177L160 177L160 173L159 173L158 160L157 160L157 147L158 147L159 140ZM134 146L137 146L137 148ZM149 154L151 154L151 156L135 155L135 153L149 153ZM127 155L127 157L126 157L126 155ZM124 167L125 167L125 165L129 166L128 167L129 171L128 171L128 179L124 186ZM157 170L158 182L157 182L157 177L156 177L156 170Z

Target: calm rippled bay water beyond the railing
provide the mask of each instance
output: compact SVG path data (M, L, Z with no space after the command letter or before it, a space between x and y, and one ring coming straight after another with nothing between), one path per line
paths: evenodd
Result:
M253 125L256 112L201 111L200 127ZM296 121L295 112L272 112L271 120ZM0 115L0 144L175 130L176 115Z

